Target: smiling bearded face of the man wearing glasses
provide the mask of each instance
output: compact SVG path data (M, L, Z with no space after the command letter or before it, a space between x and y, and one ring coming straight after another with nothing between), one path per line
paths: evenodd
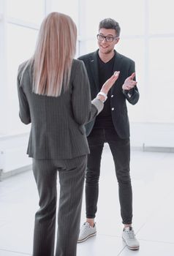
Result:
M97 40L99 45L99 51L100 53L110 53L114 50L115 45L119 41L119 37L117 37L116 30L115 29L99 29L99 35L108 37L114 37L113 42L107 42L107 38L104 38L103 40ZM111 38L112 39L112 38Z

